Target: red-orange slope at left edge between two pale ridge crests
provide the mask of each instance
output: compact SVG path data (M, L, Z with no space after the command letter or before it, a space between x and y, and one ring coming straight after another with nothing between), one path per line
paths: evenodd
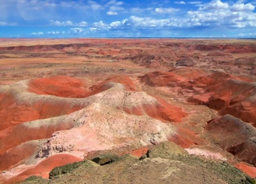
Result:
M61 108L59 108L61 107ZM71 106L67 101L38 101L30 103L16 99L11 93L0 101L0 131L28 121L70 114L83 106Z

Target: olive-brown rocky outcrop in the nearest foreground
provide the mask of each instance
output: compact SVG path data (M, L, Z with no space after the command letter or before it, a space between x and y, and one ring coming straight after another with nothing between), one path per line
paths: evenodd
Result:
M154 146L148 152L149 157L138 159L124 155L117 161L99 166L90 161L81 161L57 167L50 172L52 184L64 182L96 182L101 183L140 183L147 179L148 184L163 183L219 183L219 184L251 184L252 178L225 162L205 160L187 155L186 151L172 143ZM200 167L199 167L200 166ZM150 168L150 169L148 169ZM72 175L72 177L70 177ZM202 180L201 177L204 179ZM29 178L24 184L40 181L47 184L48 180Z

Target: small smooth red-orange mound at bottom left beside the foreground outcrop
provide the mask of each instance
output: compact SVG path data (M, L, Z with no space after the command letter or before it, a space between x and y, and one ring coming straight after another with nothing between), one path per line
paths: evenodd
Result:
M82 159L69 154L53 155L49 158L44 159L34 167L23 171L16 178L11 178L10 181L12 180L15 180L16 182L23 181L24 179L29 178L32 175L41 176L44 179L48 179L49 172L53 168L60 167L66 164L71 164L73 162L78 162L78 161L82 161Z

